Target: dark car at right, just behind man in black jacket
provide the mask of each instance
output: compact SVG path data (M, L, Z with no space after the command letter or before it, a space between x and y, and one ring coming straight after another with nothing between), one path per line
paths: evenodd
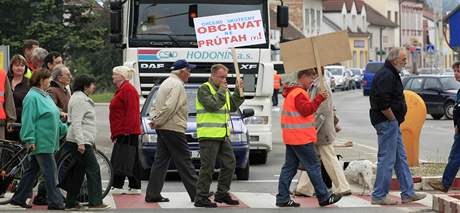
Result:
M452 119L460 83L452 76L419 75L403 80L404 89L416 92L425 101L428 114L435 120Z

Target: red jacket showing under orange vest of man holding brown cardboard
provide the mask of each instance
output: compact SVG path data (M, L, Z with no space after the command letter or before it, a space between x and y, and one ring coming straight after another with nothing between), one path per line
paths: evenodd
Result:
M287 84L283 89L283 97L286 98L287 95L294 89L294 88L302 88L300 85L297 84ZM308 92L308 91L307 91ZM302 116L309 116L316 112L319 105L324 101L324 97L318 94L313 101L309 101L303 95L297 95L295 97L295 108Z

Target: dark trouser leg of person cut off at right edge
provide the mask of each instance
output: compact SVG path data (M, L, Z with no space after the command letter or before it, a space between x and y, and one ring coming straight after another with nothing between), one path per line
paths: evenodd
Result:
M447 161L444 174L442 175L442 185L445 188L450 188L457 175L458 168L460 167L460 134L455 134L454 144L450 149L449 160Z

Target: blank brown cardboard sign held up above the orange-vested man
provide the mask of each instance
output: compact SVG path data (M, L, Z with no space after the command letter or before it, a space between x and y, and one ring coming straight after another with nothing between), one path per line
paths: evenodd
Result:
M314 45L313 42L315 42ZM316 67L313 46L317 49L320 66L351 59L350 41L345 31L303 38L280 45L281 60L286 73Z

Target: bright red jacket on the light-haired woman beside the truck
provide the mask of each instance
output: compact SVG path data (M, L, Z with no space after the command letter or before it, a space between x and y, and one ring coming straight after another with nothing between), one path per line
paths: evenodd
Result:
M109 120L112 140L119 135L141 134L139 94L129 81L121 84L110 101Z

